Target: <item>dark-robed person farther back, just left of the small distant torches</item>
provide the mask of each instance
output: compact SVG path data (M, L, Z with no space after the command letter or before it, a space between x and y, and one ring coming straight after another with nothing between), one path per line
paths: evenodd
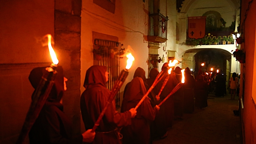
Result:
M205 108L207 107L207 97L208 97L209 85L204 81L204 76L199 75L196 80L195 86L195 107Z

